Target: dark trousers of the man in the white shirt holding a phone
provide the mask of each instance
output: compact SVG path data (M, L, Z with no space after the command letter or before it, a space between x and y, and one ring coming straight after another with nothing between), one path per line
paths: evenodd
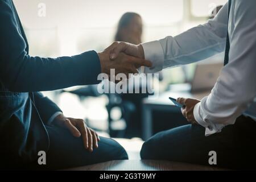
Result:
M240 116L208 137L200 125L163 131L143 144L141 158L209 165L210 151L216 151L216 167L256 169L256 122Z

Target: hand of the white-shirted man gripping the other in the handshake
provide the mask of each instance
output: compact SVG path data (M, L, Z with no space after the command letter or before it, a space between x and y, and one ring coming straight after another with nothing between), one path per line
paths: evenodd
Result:
M126 42L116 42L110 49L110 59L116 59L119 53L144 59L144 49L141 45L134 45Z

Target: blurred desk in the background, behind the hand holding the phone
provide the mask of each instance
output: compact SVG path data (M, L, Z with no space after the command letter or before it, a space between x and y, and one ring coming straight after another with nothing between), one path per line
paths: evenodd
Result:
M166 112L179 112L172 102L169 100L169 97L185 97L185 98L196 98L201 100L203 97L208 96L210 90L198 93L190 92L191 86L189 84L176 84L171 85L170 90L159 94L159 97L150 100L144 98L142 101L142 136L143 140L147 140L153 134L152 132L152 111L166 111Z

